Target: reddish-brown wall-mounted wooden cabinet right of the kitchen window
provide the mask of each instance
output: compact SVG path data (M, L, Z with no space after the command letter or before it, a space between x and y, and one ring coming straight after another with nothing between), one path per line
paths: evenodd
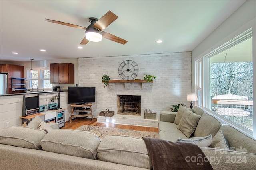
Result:
M74 64L52 63L50 64L50 83L74 84Z

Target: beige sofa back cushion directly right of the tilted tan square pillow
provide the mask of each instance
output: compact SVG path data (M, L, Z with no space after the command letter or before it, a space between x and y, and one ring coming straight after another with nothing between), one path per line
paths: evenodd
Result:
M211 115L204 113L202 114L200 120L198 121L198 125L196 126L196 130L194 133L195 137L204 137L208 135L212 135L214 137L218 130L221 127L221 123Z

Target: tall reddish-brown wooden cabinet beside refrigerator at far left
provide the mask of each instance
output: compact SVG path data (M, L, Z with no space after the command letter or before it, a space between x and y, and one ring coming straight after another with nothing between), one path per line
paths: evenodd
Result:
M12 65L12 64L1 64L0 71L1 73L8 74L8 94L24 93L24 90L26 89L24 88L24 85L25 85L24 66L18 66L18 65Z

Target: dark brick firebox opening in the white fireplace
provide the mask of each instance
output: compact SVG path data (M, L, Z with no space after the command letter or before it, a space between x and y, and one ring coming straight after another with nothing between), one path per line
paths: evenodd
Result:
M117 95L117 114L140 116L140 96Z

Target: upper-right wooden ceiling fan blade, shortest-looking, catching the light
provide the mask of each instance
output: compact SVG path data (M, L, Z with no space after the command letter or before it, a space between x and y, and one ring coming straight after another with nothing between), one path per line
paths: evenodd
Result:
M100 18L96 23L94 23L93 27L102 31L112 22L114 22L118 16L116 16L113 12L108 11L102 18Z

